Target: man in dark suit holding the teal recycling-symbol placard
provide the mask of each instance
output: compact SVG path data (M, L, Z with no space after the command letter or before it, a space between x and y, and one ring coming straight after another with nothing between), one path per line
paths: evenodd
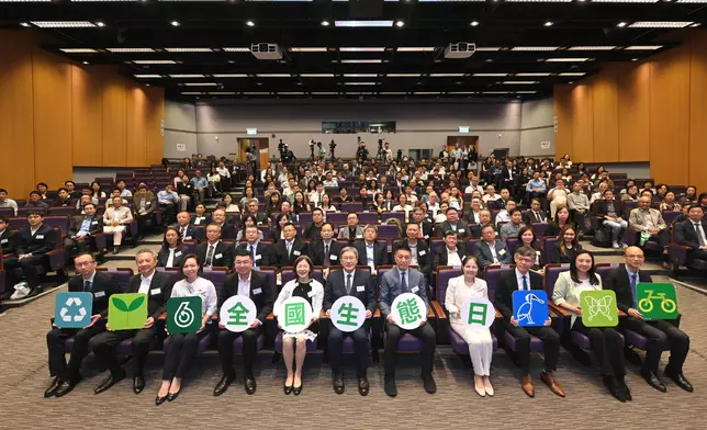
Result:
M69 292L89 292L93 294L91 322L82 329L54 327L46 335L49 351L49 374L54 377L52 385L44 392L44 397L61 397L70 393L81 381L81 362L89 353L89 341L92 337L105 331L108 301L112 294L120 293L117 283L110 274L96 271L96 261L90 253L82 253L74 259L77 275L69 280ZM65 342L74 337L71 358L66 364Z

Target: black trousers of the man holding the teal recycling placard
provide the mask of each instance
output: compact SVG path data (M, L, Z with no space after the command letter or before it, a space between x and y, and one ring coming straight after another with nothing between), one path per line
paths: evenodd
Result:
M81 362L89 353L89 341L92 337L105 331L105 320L100 319L91 327L82 329L53 328L46 335L46 346L49 352L49 375L58 376L61 381L77 381L81 374ZM74 337L71 357L66 364L64 342Z

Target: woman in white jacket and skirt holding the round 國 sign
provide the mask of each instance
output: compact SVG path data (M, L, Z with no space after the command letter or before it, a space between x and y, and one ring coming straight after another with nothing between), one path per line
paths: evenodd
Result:
M289 226L294 229L291 224ZM274 315L278 316L280 308L290 297L302 297L312 306L312 319L308 321L307 328L296 332L285 330L282 333L282 355L288 371L288 376L284 380L284 394L294 393L295 396L299 396L302 392L302 366L307 353L306 341L314 341L318 332L317 320L324 301L324 286L319 281L312 279L314 264L307 256L298 257L293 265L295 279L282 286L274 303ZM295 364L294 371L292 370L293 363Z

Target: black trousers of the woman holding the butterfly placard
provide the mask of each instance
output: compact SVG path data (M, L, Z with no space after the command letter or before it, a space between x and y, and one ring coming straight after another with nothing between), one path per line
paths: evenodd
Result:
M626 376L624 340L618 331L611 327L585 327L582 318L574 321L572 330L590 338L592 351L602 367L602 375L616 376L619 380Z

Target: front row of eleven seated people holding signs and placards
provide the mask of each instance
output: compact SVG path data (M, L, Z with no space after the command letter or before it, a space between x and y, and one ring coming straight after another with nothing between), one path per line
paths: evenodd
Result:
M523 290L542 290L542 276L531 270L536 263L535 249L521 246L514 254L515 268L503 272L496 286L495 306L503 317L503 325L517 342L516 353L523 373L521 389L530 397L535 396L535 385L530 374L530 335L539 338L545 346L545 366L540 380L556 395L564 397L564 389L556 381L558 358L560 352L560 336L552 327L548 317L543 327L519 327L513 314L513 292ZM427 393L435 393L437 386L433 377L434 355L436 349L435 329L426 321L412 330L397 325L392 316L391 305L402 293L417 294L426 304L424 315L429 310L427 287L424 275L411 267L412 251L405 244L395 248L395 267L386 271L381 279L380 293L375 294L373 278L368 270L360 270L359 250L344 247L339 254L341 269L332 271L325 285L313 279L314 264L310 257L299 256L293 261L294 279L285 283L277 299L272 296L271 285L267 276L252 270L252 253L246 248L238 248L234 258L235 271L226 276L222 297L217 297L214 284L200 276L200 257L186 256L181 265L182 279L175 280L167 272L156 270L157 258L147 249L136 254L138 274L128 281L127 291L148 295L148 317L142 329L112 331L108 326L108 301L112 294L119 293L117 284L110 274L96 270L97 263L89 253L75 258L77 275L69 281L70 292L91 292L93 294L93 315L88 327L82 329L61 329L54 327L47 333L49 351L49 372L54 377L45 392L45 397L61 397L74 389L81 381L81 361L93 351L99 361L109 370L109 375L96 387L96 394L111 388L126 375L115 359L115 347L121 341L131 339L133 355L133 391L139 394L145 388L143 367L154 339L165 336L165 326L160 316L166 309L169 297L200 296L202 297L201 327L189 333L166 333L169 349L165 355L162 382L155 403L175 400L182 388L183 377L188 374L195 357L199 342L209 333L217 339L217 350L223 375L214 388L214 395L224 394L236 378L233 367L233 342L243 337L243 374L246 393L254 394L257 385L254 376L254 365L257 354L257 339L262 333L263 322L270 312L279 310L279 305L291 296L306 299L313 307L313 317L307 328L299 332L282 333L282 349L287 367L283 384L284 394L299 395L303 389L302 367L306 357L306 342L314 341L323 328L319 312L330 316L332 305L345 295L354 295L366 305L366 324L349 333L341 332L327 325L327 352L333 370L333 387L337 394L345 392L343 377L343 342L351 337L356 346L356 374L358 391L367 395L370 384L367 377L370 353L370 318L379 307L384 321L384 384L386 395L397 395L395 385L395 361L399 340L409 333L422 341L422 380ZM588 251L580 251L570 264L570 270L560 274L553 290L554 303L569 312L569 327L590 338L591 349L597 357L601 373L609 393L620 401L631 400L631 393L626 384L626 367L624 364L624 344L619 331L635 330L650 340L647 358L641 369L641 375L649 385L665 392L666 387L659 376L660 357L664 349L670 349L671 357L664 369L664 375L675 382L681 388L692 392L693 387L683 375L683 363L689 350L689 338L682 330L664 320L646 320L637 310L636 284L651 282L648 273L641 270L643 252L638 247L625 250L626 265L614 269L607 276L606 283L595 273L594 257ZM480 270L475 257L464 256L461 262L461 275L449 281L445 307L449 313L451 328L469 344L469 353L473 364L474 389L480 396L493 396L494 389L490 381L490 366L493 357L491 331L470 329L460 319L461 307L469 297L487 297L489 291L484 280L478 278ZM583 309L580 307L580 294L588 290L609 288L616 292L618 307L628 314L621 318L617 328L587 328L582 322ZM250 327L242 332L231 332L221 324L214 324L214 316L223 303L233 295L249 296L257 308L257 318ZM74 338L68 364L65 359L65 341Z

